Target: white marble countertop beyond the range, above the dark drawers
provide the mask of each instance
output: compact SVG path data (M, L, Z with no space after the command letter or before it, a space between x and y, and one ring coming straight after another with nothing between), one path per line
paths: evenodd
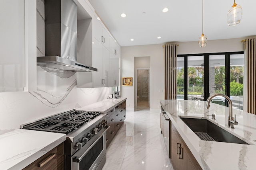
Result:
M105 99L100 102L96 102L94 104L90 104L88 106L80 107L77 110L85 110L85 111L99 111L101 113L107 113L113 107L118 106L118 104L124 102L127 98L119 98L119 99Z

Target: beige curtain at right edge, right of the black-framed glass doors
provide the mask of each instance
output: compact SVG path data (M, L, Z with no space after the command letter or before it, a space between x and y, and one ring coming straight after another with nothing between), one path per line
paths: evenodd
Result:
M244 43L244 111L256 114L256 39Z

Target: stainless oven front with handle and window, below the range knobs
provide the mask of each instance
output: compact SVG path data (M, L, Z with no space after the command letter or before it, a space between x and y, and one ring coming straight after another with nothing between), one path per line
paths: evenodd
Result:
M108 129L108 128L107 128ZM106 131L97 133L96 140L87 149L80 149L73 156L66 156L67 169L71 170L101 170L106 162ZM103 130L103 129L102 129ZM90 142L90 141L89 141Z

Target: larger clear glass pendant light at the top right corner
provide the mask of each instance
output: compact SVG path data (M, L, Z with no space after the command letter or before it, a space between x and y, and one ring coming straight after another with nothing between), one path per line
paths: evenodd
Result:
M242 7L236 4L234 0L234 4L231 6L230 10L228 11L227 21L229 26L234 26L240 23L242 20Z

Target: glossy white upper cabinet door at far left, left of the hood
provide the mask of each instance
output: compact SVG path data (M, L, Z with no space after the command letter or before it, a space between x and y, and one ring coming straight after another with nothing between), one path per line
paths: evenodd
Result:
M0 92L25 86L25 1L0 1ZM10 89L12 88L12 89Z

